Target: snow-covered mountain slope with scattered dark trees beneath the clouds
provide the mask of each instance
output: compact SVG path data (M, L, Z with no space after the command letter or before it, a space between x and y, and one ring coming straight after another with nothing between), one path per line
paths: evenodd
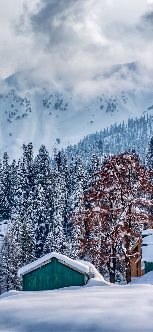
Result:
M88 133L141 116L153 104L153 90L139 83L137 74L136 63L103 70L92 81L101 92L91 91L90 97L76 94L73 84L46 79L43 68L7 77L0 82L0 158L8 151L10 160L18 159L29 141L35 155L41 144L51 153L59 141L58 148L65 148Z

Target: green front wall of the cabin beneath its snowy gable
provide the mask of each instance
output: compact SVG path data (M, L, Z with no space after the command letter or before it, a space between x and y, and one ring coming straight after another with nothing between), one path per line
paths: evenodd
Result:
M58 262L55 257L51 262L33 270L23 277L23 290L53 290L68 286L83 286L85 276Z

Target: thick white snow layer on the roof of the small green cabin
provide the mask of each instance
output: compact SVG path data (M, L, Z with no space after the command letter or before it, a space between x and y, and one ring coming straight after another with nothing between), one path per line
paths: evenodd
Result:
M60 260L64 261L65 263L73 266L74 268L81 270L82 272L88 274L90 278L96 277L101 281L104 280L102 275L96 270L96 268L94 267L93 264L91 264L89 262L86 262L86 261L83 261L83 260L74 260L74 259L71 259L71 258L65 256L65 255L58 254L56 252L51 252L51 253L37 259L36 261L34 261L34 262L32 262L32 263L30 263L26 266L23 266L18 271L18 276L20 277L21 274L26 274L27 271L32 270L32 269L36 269L37 266L39 266L40 264L44 263L45 261L51 259L52 257L60 259Z

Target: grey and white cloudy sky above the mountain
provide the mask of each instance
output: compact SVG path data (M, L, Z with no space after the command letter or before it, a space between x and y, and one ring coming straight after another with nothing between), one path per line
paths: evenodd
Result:
M106 65L153 67L153 0L0 0L0 80L52 68L85 79Z

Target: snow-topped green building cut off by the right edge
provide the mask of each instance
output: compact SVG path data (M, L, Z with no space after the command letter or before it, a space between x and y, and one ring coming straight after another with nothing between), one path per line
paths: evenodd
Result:
M153 229L142 232L141 269L144 274L153 271Z

